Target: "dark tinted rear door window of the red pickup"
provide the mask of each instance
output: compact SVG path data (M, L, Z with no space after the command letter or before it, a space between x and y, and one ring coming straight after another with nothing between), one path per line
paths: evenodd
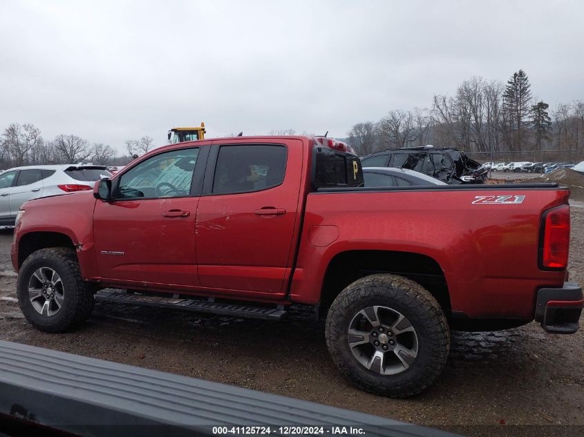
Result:
M221 146L213 179L214 194L249 193L273 188L284 180L285 146Z

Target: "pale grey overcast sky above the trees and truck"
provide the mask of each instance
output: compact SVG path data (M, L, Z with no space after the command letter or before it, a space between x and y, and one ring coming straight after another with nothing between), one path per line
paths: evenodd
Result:
M584 99L583 1L0 1L0 128L122 150L208 136L343 137L523 68L550 104Z

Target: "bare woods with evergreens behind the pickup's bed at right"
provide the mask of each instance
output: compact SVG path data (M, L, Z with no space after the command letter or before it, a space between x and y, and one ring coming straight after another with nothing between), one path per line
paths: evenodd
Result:
M347 141L360 156L384 148L455 146L497 155L534 150L584 152L584 101L549 104L531 95L523 70L507 84L472 77L454 95L434 95L429 108L390 110L377 122L359 122Z

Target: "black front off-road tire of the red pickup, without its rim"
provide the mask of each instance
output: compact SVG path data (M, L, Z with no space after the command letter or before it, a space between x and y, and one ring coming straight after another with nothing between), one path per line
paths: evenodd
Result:
M28 284L40 267L53 269L61 277L64 302L54 315L39 313L30 302ZM79 269L77 255L73 249L51 247L32 253L23 262L18 275L17 294L20 309L33 327L45 332L63 332L78 327L93 311L95 299L93 287L84 282Z

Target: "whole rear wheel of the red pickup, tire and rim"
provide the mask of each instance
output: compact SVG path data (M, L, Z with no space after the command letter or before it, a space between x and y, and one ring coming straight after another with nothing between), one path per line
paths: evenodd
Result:
M420 284L377 274L337 296L326 320L326 342L341 373L357 387L405 398L440 375L450 332L440 304Z

